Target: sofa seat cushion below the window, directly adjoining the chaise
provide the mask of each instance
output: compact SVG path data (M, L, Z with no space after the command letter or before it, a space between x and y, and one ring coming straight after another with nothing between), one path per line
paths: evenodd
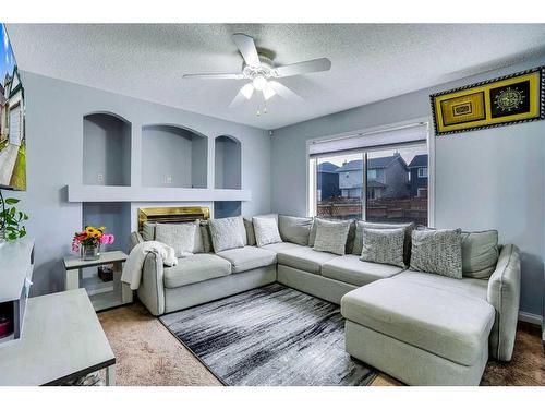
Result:
M347 254L324 263L322 275L354 286L365 286L380 278L392 277L403 268L378 263L362 262L358 255Z

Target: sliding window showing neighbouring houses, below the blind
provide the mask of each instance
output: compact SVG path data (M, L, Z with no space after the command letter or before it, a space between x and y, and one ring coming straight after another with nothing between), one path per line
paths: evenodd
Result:
M311 180L316 181L310 192L312 213L324 218L427 226L427 129L421 128L424 131L414 142L386 145L377 140L374 146L347 153L317 151L311 156L315 164ZM334 142L327 141L326 147L335 148Z

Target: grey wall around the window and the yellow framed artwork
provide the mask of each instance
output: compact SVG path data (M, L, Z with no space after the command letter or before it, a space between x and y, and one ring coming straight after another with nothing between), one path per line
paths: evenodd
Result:
M429 94L545 63L545 56L278 129L272 136L272 210L306 213L306 141L431 116ZM402 71L400 75L403 75ZM435 225L497 229L522 250L521 310L542 314L545 121L437 137ZM280 166L281 164L281 166Z

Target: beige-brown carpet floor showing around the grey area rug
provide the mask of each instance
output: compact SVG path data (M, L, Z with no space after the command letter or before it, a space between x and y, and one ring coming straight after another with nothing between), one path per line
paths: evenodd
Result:
M140 303L98 314L116 354L117 385L219 386L221 383ZM373 386L401 385L380 374ZM489 362L482 385L545 385L545 358L535 326L521 324L513 359Z

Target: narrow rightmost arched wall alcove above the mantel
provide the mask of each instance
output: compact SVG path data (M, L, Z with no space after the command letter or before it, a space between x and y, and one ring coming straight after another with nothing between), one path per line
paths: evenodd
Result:
M215 188L241 189L241 144L233 136L221 135L215 141Z

